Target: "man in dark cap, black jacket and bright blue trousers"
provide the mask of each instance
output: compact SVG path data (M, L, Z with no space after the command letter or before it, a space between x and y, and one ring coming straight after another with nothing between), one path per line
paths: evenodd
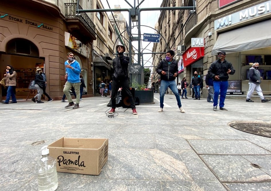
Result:
M208 70L210 78L214 79L214 107L213 110L217 111L218 96L220 92L219 99L219 109L222 111L228 111L224 107L224 101L228 89L228 79L229 74L233 75L235 70L231 65L231 62L225 60L226 52L221 51L217 53L217 60L213 62Z

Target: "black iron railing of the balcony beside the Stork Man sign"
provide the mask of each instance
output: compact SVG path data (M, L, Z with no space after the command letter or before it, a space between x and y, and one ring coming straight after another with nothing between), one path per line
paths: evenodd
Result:
M95 37L96 36L96 29L94 23L91 21L89 16L87 16L86 13L80 13L81 15L75 15L76 8L77 8L77 3L64 3L65 4L65 17L66 18L77 18L79 19L85 27L90 31L90 33ZM83 9L79 5L79 9Z

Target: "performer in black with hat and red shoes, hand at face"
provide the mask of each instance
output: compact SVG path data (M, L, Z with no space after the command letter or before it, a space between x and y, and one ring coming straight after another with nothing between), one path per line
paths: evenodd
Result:
M130 91L129 81L128 81L128 64L129 57L124 56L125 47L122 44L116 46L118 56L113 60L114 73L112 75L112 94L111 94L111 107L112 109L108 113L114 113L116 109L116 94L118 89L122 87L122 91L125 91L129 97L131 108L134 115L137 115L137 110L134 105L134 98Z

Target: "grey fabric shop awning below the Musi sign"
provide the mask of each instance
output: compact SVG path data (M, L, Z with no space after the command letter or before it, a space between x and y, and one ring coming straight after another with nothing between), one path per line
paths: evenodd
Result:
M219 51L241 52L271 46L270 19L219 34L212 55Z

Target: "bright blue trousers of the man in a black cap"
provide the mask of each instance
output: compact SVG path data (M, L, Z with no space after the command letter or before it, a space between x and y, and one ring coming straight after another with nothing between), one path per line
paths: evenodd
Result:
M227 89L228 89L228 81L214 81L214 106L217 106L219 90L220 90L219 107L224 107L224 101L226 98Z

